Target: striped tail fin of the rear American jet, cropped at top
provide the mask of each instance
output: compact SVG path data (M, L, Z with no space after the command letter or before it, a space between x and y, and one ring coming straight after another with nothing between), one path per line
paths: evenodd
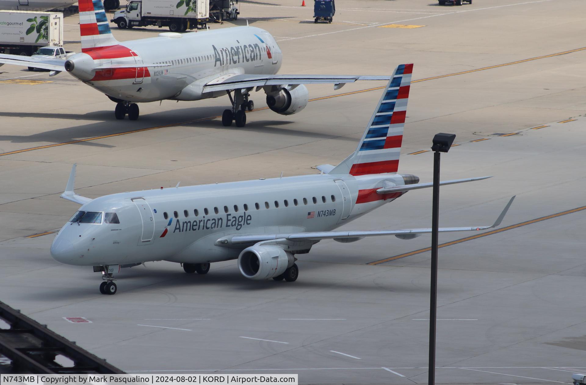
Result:
M79 0L81 52L118 44L114 39L102 0Z

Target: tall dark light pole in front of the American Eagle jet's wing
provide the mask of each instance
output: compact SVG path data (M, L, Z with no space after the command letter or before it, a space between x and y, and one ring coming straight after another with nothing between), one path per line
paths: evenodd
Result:
M440 152L448 152L454 143L455 134L436 134L434 145L434 186L431 209L431 290L430 290L430 369L429 385L435 385L435 320L437 318L438 285L438 217L440 215Z

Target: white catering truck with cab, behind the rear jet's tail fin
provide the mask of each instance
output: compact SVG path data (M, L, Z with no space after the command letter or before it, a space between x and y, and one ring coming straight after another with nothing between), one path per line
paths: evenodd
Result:
M206 28L210 0L132 0L110 20L118 28L156 25L171 32Z

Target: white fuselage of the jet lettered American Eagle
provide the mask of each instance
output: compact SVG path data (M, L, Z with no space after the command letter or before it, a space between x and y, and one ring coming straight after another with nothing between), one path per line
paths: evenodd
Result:
M318 174L117 193L79 210L116 213L119 224L69 222L51 253L72 265L230 260L250 245L216 246L220 237L329 231L396 199L402 193L376 194L393 185L404 185L403 176Z

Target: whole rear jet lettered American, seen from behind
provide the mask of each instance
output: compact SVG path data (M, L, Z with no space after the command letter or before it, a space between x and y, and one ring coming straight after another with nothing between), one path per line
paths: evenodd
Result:
M0 65L16 64L63 70L116 103L114 115L137 120L137 103L195 101L228 96L222 124L246 124L254 103L250 92L263 90L267 105L281 115L298 113L308 103L304 84L333 83L338 90L356 80L389 80L388 76L277 74L281 49L267 31L241 26L191 33L163 32L156 38L118 42L110 31L101 0L80 0L81 53L60 59L0 54Z

